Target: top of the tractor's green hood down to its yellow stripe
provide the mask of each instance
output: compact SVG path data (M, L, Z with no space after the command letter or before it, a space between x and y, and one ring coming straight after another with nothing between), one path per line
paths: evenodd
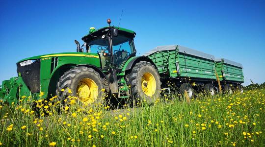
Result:
M35 60L40 58L46 58L46 57L58 57L58 56L83 56L83 57L95 57L98 58L99 55L97 53L87 53L87 52L61 52L61 53L51 53L51 54L44 54L44 55L38 55L33 57L28 57L25 59L22 59L18 61L17 63L27 61L27 60Z

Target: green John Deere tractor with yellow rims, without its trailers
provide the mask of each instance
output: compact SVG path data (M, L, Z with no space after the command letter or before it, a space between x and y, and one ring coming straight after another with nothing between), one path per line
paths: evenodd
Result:
M0 99L11 104L22 97L38 100L57 95L64 102L72 95L82 104L92 104L111 94L153 103L161 84L155 64L148 57L135 56L134 31L111 26L109 19L107 23L98 30L91 27L82 46L75 40L77 52L20 60L18 76L2 82Z

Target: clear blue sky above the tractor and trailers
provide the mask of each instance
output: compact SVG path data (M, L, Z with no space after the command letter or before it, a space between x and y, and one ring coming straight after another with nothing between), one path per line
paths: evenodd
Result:
M264 0L0 0L0 81L20 59L75 51L89 27L118 25L122 8L137 55L179 44L242 63L243 85L265 82Z

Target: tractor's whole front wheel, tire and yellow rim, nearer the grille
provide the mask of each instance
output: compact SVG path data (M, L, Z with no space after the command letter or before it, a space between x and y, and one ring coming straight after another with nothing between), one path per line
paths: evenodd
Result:
M105 89L103 80L92 68L75 67L60 77L56 94L62 104L65 104L64 100L68 96L77 97L79 104L102 103ZM67 88L71 89L71 92L67 91Z

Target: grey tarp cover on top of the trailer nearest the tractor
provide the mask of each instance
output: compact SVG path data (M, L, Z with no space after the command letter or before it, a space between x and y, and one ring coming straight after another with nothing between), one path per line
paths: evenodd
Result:
M186 48L186 47L182 47L182 46L179 46L179 45L169 45L169 46L158 46L154 49L151 49L150 51L144 53L143 55L144 56L148 56L154 52L157 52L157 51L163 51L163 50L175 50L175 49L179 49L179 52L182 52L182 53L185 53L185 54L190 54L190 55L193 55L193 56L198 56L198 57L201 57L201 58L205 58L205 59L209 59L209 60L215 60L215 57L211 54L208 54L208 53L204 53L204 52L201 52L201 51L198 51L198 50L195 50L195 49L189 49L189 48Z

